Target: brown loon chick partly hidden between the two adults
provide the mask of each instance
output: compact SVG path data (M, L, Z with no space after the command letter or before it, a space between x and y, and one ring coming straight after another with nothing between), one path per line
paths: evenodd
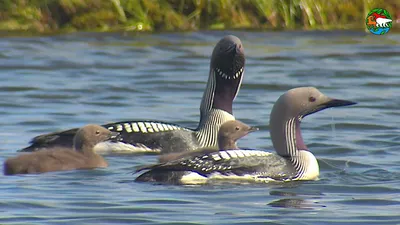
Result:
M219 150L239 149L236 145L237 140L246 136L250 132L257 131L257 127L250 127L249 125L239 121L231 120L223 123L218 131L218 148L200 148L193 151L174 152L169 154L160 155L159 162L168 162L184 157L193 157Z

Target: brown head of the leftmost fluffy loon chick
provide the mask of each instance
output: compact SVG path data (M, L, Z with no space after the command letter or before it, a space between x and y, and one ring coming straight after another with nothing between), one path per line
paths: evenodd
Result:
M119 133L109 131L108 129L89 124L80 128L74 136L74 148L83 153L93 153L93 147L105 141L119 141Z

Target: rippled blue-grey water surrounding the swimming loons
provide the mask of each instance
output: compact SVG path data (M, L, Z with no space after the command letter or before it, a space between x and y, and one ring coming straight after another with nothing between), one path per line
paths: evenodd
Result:
M3 176L0 224L400 224L400 34L394 33L3 37L0 160L36 135L87 123L161 119L196 127L211 51L226 34L242 39L247 60L235 116L262 129L240 146L272 149L269 113L290 88L312 85L359 102L303 120L320 180L143 184L132 171L155 156L107 155L107 169Z

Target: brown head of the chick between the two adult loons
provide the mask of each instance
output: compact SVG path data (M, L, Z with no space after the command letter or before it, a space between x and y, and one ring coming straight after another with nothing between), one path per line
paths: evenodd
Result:
M257 127L251 127L239 120L227 121L219 128L218 147L220 150L237 149L237 140L257 130Z

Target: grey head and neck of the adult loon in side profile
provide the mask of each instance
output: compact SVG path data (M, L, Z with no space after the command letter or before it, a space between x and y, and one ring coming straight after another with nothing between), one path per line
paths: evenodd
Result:
M330 98L315 87L299 87L281 95L270 115L270 134L275 150L282 155L291 155L294 147L306 150L301 137L302 118L331 108L354 105L355 102ZM288 146L293 144L295 146Z

